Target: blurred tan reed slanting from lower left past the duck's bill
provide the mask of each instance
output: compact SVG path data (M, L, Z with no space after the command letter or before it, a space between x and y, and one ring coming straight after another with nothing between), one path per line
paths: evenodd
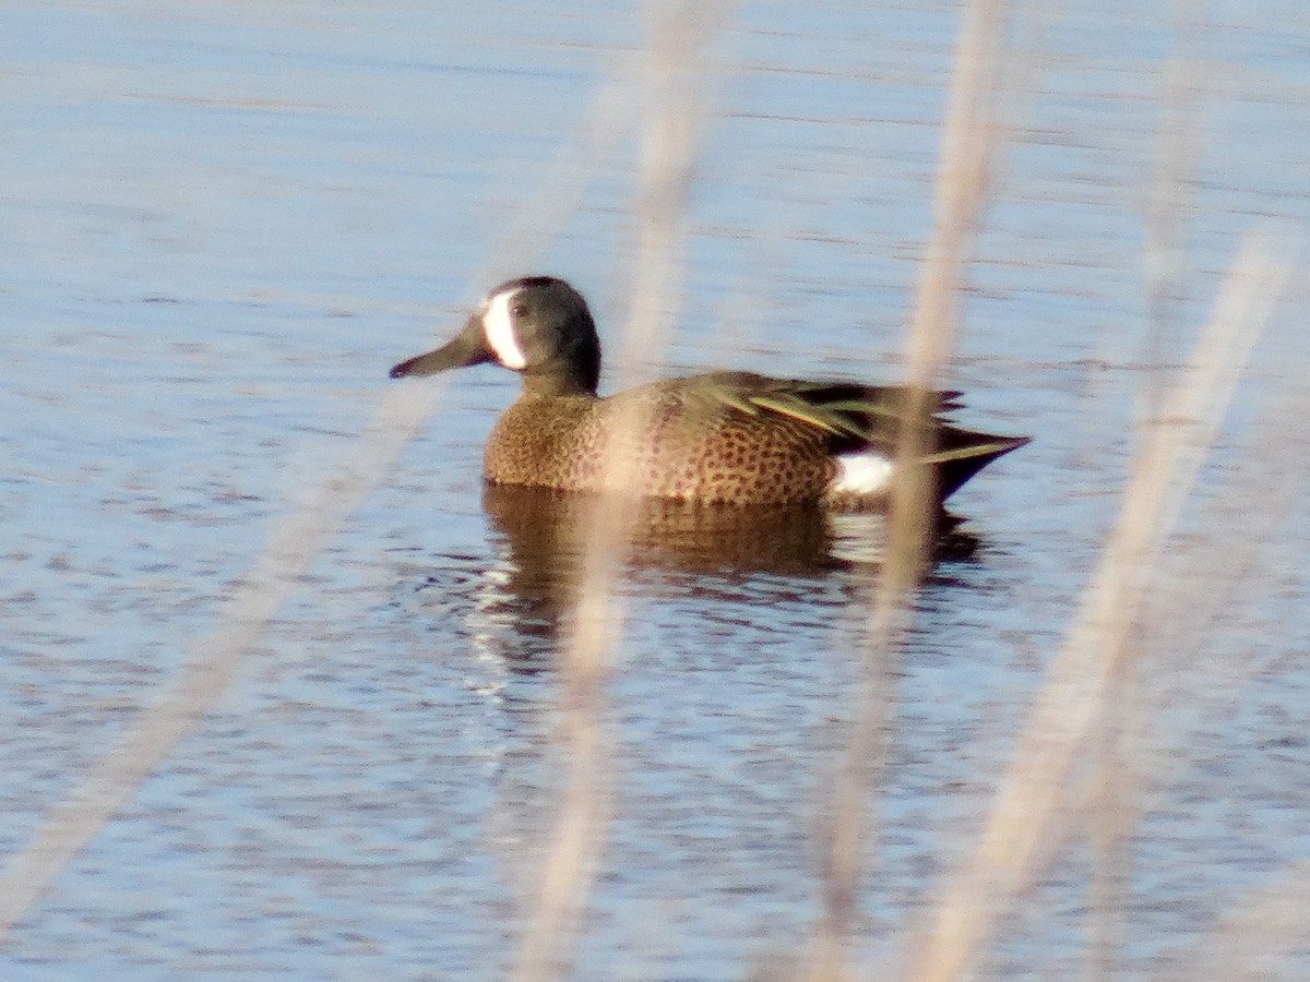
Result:
M588 124L552 169L540 199L523 207L489 266L521 268L558 234L595 170L624 134L631 82L603 89ZM46 817L33 841L0 872L0 947L55 877L77 856L169 757L177 742L212 710L240 672L252 644L317 559L351 511L388 475L440 401L441 386L400 386L373 412L335 475L283 521L252 571L232 589L219 625L198 638L177 682L143 708L86 779Z

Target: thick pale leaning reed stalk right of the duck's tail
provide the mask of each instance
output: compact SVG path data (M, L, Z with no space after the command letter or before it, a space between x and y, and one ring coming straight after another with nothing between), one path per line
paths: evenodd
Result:
M1290 261L1251 238L1225 279L1191 364L1136 457L1119 521L1078 619L1028 715L979 847L921 939L913 977L945 981L977 960L1039 852L1053 848L1074 758L1129 657L1142 587L1171 532Z

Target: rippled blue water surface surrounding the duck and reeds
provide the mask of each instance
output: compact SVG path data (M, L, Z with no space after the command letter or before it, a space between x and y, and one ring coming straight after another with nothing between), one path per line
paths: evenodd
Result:
M1015 59L1024 94L948 381L965 426L1035 443L954 500L967 547L918 601L858 924L874 974L969 854L1119 507L1169 7L1061 10ZM958 20L954 4L735 12L709 50L662 371L895 377ZM1166 361L1241 234L1303 228L1305 27L1289 0L1199 24ZM604 4L198 0L10 4L0 38L12 854L203 644L270 532L359 439L386 368L448 335L487 270L524 271L493 250L643 27ZM610 336L634 152L618 141L534 267L572 279ZM1209 944L1310 855L1293 279L1140 644L1132 977ZM503 974L554 818L567 621L515 509L482 503L479 448L512 390L490 369L452 380L233 690L14 931L0 975ZM785 529L710 553L692 537L617 587L617 813L579 978L734 979L803 951L870 573L834 558L840 529ZM1079 970L1082 843L1041 871L985 975ZM1276 970L1302 977L1310 957Z

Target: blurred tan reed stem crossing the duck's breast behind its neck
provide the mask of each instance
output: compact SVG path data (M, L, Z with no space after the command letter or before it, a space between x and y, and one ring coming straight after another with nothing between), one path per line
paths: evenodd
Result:
M617 373L626 388L655 360L672 331L681 267L683 217L698 141L697 52L710 8L654 3L647 48L650 114L641 143L637 276ZM635 376L635 378L634 378ZM562 978L600 864L612 810L613 749L605 724L610 651L622 625L614 593L641 499L630 492L648 410L629 403L608 446L607 491L586 528L574 627L563 647L567 776L540 889L519 941L515 982Z

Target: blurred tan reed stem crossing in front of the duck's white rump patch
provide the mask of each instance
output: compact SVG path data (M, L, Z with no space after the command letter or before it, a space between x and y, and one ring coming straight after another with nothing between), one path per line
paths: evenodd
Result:
M910 402L896 449L889 538L872 598L866 659L845 762L833 792L833 827L824 869L824 914L815 931L810 978L845 975L845 948L857 913L866 842L866 801L886 761L895 690L895 652L909 626L908 598L927 566L937 516L931 475L917 461L935 450L926 426L937 411L937 381L958 333L965 263L988 200L996 143L997 80L1006 20L1005 0L972 0L955 54L943 126L934 228L918 282L905 351Z

